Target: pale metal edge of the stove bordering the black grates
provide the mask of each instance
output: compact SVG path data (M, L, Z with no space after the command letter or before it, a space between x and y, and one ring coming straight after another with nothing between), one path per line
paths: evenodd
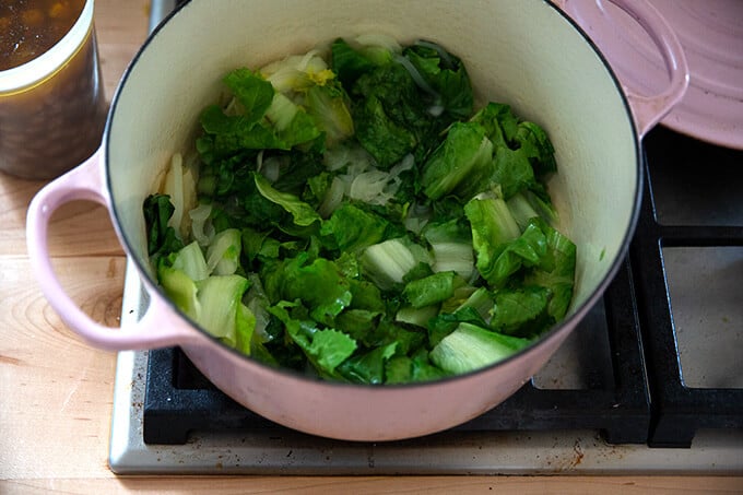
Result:
M121 326L142 309L127 268ZM109 467L117 474L732 474L743 473L743 432L700 431L692 448L609 445L594 431L440 434L356 444L300 433L194 434L186 445L142 437L146 352L117 358Z

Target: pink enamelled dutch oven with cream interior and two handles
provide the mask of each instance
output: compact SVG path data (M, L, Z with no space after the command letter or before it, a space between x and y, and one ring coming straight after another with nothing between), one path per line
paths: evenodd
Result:
M604 57L564 13L580 8L571 0L557 2L559 8L545 0L186 3L150 36L125 73L99 150L45 187L30 207L28 250L46 297L92 345L114 351L179 345L229 397L302 432L390 440L439 432L480 415L528 381L601 297L636 224L640 140L687 85L680 44L660 15L639 0L613 1L638 20L662 52L670 76L664 93L640 96L623 89ZM361 33L439 43L464 60L482 101L509 103L518 115L546 128L555 146L559 173L550 188L561 215L558 227L578 246L574 302L565 321L541 340L482 370L375 387L317 381L270 368L222 345L187 319L151 271L142 202L173 153L188 149L197 116L215 99L221 75ZM47 229L54 211L72 200L108 208L149 294L149 306L135 325L99 325L61 288L47 251Z

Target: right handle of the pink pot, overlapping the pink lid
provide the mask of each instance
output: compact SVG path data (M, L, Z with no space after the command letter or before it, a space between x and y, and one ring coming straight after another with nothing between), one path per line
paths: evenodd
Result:
M639 137L644 137L686 93L689 81L688 64L683 47L673 28L668 24L658 10L647 0L609 0L645 30L663 57L663 63L669 76L668 87L657 95L641 95L625 85L624 91L633 109L635 125ZM554 0L555 4L567 15L580 24L583 9L597 8L605 14L602 0ZM594 5L590 5L593 3ZM581 26L588 28L589 26ZM606 54L611 58L611 54Z

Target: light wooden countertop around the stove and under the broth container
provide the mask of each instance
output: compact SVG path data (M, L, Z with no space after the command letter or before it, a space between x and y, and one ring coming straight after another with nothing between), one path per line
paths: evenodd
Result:
M145 37L148 0L97 0L107 95ZM733 493L741 478L715 476L117 476L108 469L115 354L81 342L31 273L25 213L43 186L0 174L0 493ZM117 325L126 258L105 209L58 211L49 249L82 308Z

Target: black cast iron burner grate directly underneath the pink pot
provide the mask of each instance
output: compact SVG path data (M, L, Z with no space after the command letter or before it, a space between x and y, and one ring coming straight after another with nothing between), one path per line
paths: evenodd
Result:
M544 389L526 384L506 402L452 431L597 429L611 444L644 444L650 425L649 396L639 327L625 263L593 309L608 320L612 373L589 377L589 388ZM593 318L587 318L592 321ZM581 332L589 334L590 323ZM589 343L590 344L590 343ZM190 432L283 427L237 404L213 386L179 349L150 351L143 412L145 444L185 444Z

